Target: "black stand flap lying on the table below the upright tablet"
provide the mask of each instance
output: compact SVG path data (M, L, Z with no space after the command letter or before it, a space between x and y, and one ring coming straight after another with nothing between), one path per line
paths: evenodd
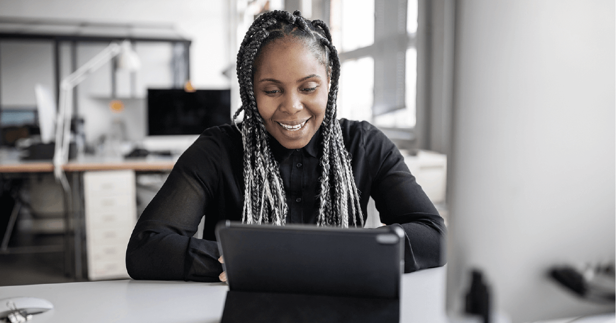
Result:
M221 323L397 323L400 300L229 290Z

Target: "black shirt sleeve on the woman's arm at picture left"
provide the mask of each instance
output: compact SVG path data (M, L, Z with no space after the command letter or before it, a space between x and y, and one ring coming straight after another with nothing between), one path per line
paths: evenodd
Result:
M163 187L145 208L126 251L126 268L132 278L219 281L222 266L217 260L217 243L212 239L213 228L221 214L228 211L219 198L220 192L229 187L225 183L235 184L237 180L233 176L225 178L224 174L233 174L230 168L237 166L225 160L232 158L232 153L241 154L241 149L234 151L235 145L222 140L225 138L218 129L201 134L180 156ZM232 192L226 192L227 196L241 197L238 187L230 186ZM210 240L193 237L204 215L210 229L204 235Z

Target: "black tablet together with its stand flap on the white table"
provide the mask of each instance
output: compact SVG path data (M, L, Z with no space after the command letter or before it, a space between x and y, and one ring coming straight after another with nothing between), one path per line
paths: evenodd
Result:
M216 230L229 292L222 323L399 322L397 227L249 225Z

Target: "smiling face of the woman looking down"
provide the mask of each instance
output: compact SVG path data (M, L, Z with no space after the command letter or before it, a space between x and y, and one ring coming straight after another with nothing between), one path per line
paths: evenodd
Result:
M325 117L330 78L303 41L267 44L257 59L254 95L265 129L288 149L304 147Z

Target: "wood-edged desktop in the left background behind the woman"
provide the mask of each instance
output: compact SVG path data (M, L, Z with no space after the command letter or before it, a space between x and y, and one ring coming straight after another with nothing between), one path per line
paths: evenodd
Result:
M63 166L64 171L167 171L173 168L177 157L148 157L124 159L121 157L100 157L85 155L70 160ZM48 173L54 171L51 160L20 160L17 150L0 150L0 173Z

